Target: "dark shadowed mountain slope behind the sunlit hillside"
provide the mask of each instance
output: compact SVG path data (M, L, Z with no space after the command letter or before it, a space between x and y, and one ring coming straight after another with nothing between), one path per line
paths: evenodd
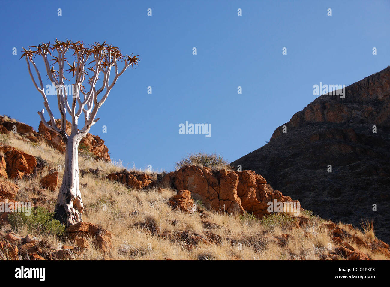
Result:
M346 87L343 99L318 97L231 164L253 169L321 217L355 226L374 219L378 237L389 241L390 67Z

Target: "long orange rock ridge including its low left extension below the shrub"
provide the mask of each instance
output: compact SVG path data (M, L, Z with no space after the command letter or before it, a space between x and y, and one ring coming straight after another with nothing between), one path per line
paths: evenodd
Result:
M249 212L259 218L270 214L269 202L280 205L283 212L299 214L300 204L290 196L273 190L261 175L251 170L228 171L192 165L156 176L135 171L119 171L106 178L134 189L165 186L177 191L189 191L208 209L223 210L228 214ZM279 203L281 202L281 203Z

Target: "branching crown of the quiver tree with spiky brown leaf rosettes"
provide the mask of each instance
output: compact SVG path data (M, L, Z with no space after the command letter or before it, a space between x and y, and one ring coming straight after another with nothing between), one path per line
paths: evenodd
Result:
M118 47L108 45L106 44L106 41L102 44L95 42L93 45L87 47L84 45L83 41L73 42L68 39L66 39L66 41L58 41L58 39L56 39L53 44L50 44L50 42L40 43L38 46L29 46L28 50L23 48L22 52L21 58L24 57L27 61L28 72L32 82L34 83L35 88L43 96L44 106L50 116L51 125L44 119L44 109L41 112L38 112L38 114L41 116L41 119L47 128L57 132L57 134L62 135L64 138L67 138L65 132L66 112L72 116L72 132L74 134L85 135L88 133L90 127L99 120L99 118L95 119L97 111L105 102L118 77L122 75L129 66L133 69L134 66L137 68L138 61L140 61L138 58L139 55L123 55ZM58 53L58 57L53 55L56 52ZM71 53L71 56L75 58L73 64L68 62L69 58L65 57L66 53ZM42 56L48 78L56 85L55 92L57 94L58 109L62 116L61 128L58 128L55 125L55 118L49 107L41 74L34 62L35 56L37 55ZM51 57L52 59L49 60L48 57ZM92 59L92 61L87 63L90 59ZM118 61L124 62L124 67L121 71L118 71ZM69 66L69 69L67 70L64 70L65 63ZM35 80L35 77L31 72L30 64L32 64L35 69L38 81ZM58 67L58 70L56 70L55 67ZM115 77L110 84L110 73L113 67L115 68ZM69 105L68 102L67 85L65 85L65 81L69 81L69 79L64 76L65 71L72 73L74 78L74 85L71 92L73 101L71 105ZM91 73L91 75L89 75L89 73ZM99 80L99 75L101 73L104 75L103 84L97 89L96 83ZM86 77L88 77L88 84L90 84L89 90L86 90L84 87L84 80ZM105 91L103 97L101 100L97 100L97 96L103 91ZM76 105L78 105L78 108L76 108ZM78 118L82 112L85 116L85 126L81 130L78 130Z

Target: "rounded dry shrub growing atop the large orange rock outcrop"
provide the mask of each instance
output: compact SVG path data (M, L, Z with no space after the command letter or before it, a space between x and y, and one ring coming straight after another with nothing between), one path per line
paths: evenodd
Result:
M227 169L232 170L232 166L229 165L229 162L221 155L217 155L216 153L189 153L182 160L175 163L176 169L184 168L185 166L192 166L196 164L197 166L205 166L207 168L211 168L213 170Z

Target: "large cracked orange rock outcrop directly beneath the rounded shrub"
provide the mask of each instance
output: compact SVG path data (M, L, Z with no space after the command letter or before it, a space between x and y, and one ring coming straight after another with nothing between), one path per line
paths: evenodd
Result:
M269 202L296 202L280 191L271 190L267 181L254 171L213 171L210 168L187 166L168 173L163 184L177 190L188 190L192 197L216 210L250 212L262 217L268 212Z

